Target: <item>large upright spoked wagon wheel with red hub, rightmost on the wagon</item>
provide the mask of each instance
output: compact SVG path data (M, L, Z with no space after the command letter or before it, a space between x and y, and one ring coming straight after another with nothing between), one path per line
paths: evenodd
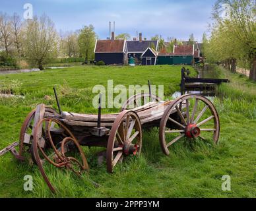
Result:
M176 113L172 111L176 109ZM213 133L213 136L211 136ZM177 98L164 112L160 123L159 139L164 154L181 138L212 139L215 144L220 136L218 113L210 100L197 94Z

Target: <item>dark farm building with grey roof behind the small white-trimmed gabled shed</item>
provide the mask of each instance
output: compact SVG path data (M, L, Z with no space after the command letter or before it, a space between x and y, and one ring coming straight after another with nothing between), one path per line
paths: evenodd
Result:
M148 47L158 49L158 40L143 40L140 33L139 40L127 41L128 58L133 57L135 63L140 64L142 61L141 55Z

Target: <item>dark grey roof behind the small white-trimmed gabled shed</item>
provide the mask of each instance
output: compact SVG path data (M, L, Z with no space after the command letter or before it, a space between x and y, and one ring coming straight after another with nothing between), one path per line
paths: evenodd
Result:
M152 44L157 49L158 40L143 40L142 42L139 41L127 41L127 49L128 52L141 52L143 53L146 51L148 47L152 47Z

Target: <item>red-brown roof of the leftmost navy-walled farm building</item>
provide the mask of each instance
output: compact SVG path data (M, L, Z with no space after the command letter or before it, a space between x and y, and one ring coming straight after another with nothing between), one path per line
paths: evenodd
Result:
M121 53L125 48L125 40L97 40L95 53Z

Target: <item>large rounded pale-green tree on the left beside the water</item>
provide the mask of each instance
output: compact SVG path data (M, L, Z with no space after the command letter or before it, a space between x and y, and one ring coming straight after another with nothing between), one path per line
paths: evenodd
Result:
M43 65L53 58L57 50L57 33L48 16L34 16L26 21L22 45L26 58L32 65L44 69Z

